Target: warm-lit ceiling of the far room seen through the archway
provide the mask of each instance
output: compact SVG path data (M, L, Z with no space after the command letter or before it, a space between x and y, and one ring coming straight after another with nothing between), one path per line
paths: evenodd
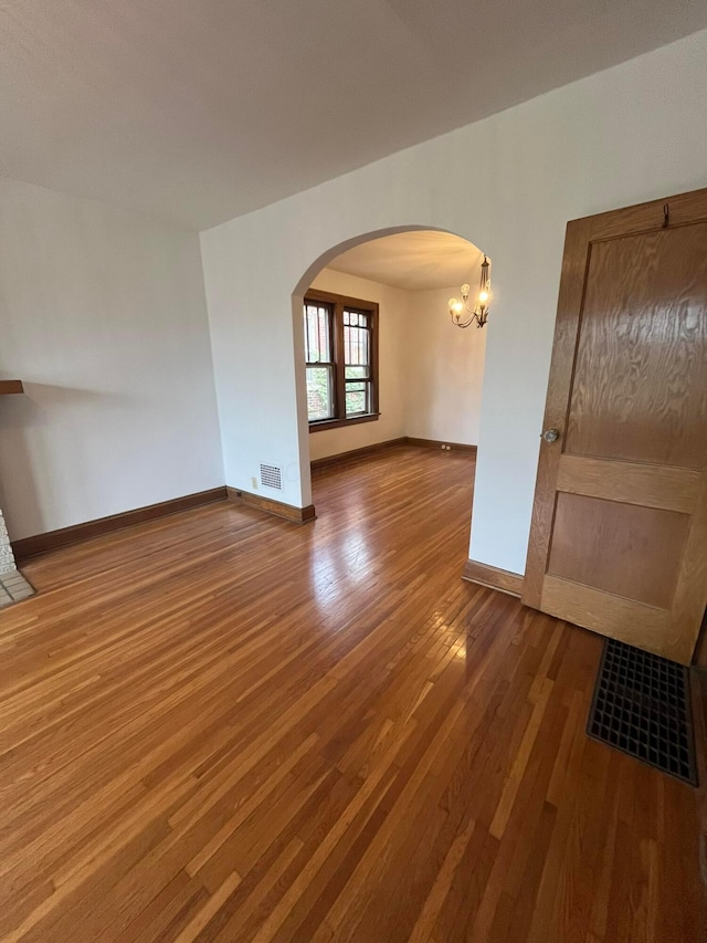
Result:
M328 268L395 289L425 291L477 282L483 253L458 235L433 230L371 239L337 255Z

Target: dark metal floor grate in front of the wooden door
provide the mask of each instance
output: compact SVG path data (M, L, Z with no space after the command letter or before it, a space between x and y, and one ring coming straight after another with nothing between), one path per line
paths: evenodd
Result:
M606 639L587 733L697 785L689 673L682 664Z

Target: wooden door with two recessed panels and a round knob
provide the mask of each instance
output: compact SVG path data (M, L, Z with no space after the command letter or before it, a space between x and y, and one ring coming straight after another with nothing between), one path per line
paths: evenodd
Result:
M570 222L523 601L688 664L707 605L707 190Z

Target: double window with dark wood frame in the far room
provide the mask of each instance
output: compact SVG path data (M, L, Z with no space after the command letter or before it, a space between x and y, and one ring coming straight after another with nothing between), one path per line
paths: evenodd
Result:
M310 430L378 419L378 305L312 290L304 317Z

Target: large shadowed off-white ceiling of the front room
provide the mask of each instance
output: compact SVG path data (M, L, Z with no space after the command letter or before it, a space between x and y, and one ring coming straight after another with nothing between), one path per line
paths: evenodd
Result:
M0 0L0 172L203 229L705 27L704 0Z

